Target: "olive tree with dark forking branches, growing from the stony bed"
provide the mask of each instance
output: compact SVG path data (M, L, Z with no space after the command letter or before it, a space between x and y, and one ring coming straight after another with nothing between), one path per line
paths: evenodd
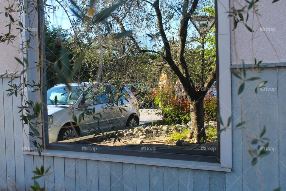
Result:
M107 6L110 6L110 4L107 3ZM208 76L204 76L205 68L202 67L201 81L196 86L189 71L189 65L192 65L192 63L188 63L185 59L187 41L194 36L193 32L189 32L191 25L189 21L196 11L203 10L203 6L206 6L206 1L144 0L138 2L127 0L117 11L111 13L110 17L116 23L118 30L122 32L132 30L132 33L128 33L128 38L133 43L132 51L145 55L151 64L170 68L181 81L190 103L191 130L188 137L195 143L206 138L203 121L203 99L207 90L216 80L215 65L208 73ZM213 6L211 1L208 6ZM140 31L148 30L151 33L148 33L147 36L157 41L159 46L162 46L162 49L159 49L160 51L155 50L153 47L140 46L136 35ZM172 51L171 48L174 41L173 35L177 36L176 51ZM172 37L170 39L167 36ZM157 54L161 61L152 59L148 53Z

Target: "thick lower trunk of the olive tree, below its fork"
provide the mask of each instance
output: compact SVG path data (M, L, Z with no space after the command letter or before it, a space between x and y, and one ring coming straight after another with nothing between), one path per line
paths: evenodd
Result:
M188 135L191 143L206 140L206 132L203 121L203 100L191 101L191 128Z

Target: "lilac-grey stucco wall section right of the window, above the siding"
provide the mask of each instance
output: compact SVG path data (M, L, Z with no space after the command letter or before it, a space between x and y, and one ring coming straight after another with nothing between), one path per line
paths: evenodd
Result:
M231 4L233 1L230 0ZM234 7L241 8L246 5L245 1L234 0ZM271 43L274 45L277 54L282 62L286 62L286 24L285 24L285 7L286 1L278 1L276 3L271 3L272 1L259 1L258 3L258 19L261 26L264 27L265 33L268 36ZM244 15L246 19L246 14ZM232 21L232 19L231 19ZM273 50L270 41L267 39L261 27L259 25L256 15L249 12L249 19L247 24L249 27L253 28L253 44L254 51L252 51L252 36L251 33L246 29L243 23L239 23L237 29L234 31L236 36L236 47L237 47L237 58L238 60L244 60L248 64L253 63L253 56L257 60L263 60L263 63L275 63L279 62L275 51ZM231 22L231 27L233 27L233 22ZM253 26L253 27L252 27ZM234 48L234 35L231 34L231 62L235 63L236 54Z

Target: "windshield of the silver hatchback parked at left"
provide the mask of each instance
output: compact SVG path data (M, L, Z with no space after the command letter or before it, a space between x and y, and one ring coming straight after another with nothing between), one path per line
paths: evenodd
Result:
M78 86L72 86L71 89L67 86L52 87L47 91L48 105L73 105L80 96L81 90Z

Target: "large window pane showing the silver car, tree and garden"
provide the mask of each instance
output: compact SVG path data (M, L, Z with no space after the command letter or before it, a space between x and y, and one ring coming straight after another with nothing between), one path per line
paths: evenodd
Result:
M216 1L51 3L46 148L220 162Z

